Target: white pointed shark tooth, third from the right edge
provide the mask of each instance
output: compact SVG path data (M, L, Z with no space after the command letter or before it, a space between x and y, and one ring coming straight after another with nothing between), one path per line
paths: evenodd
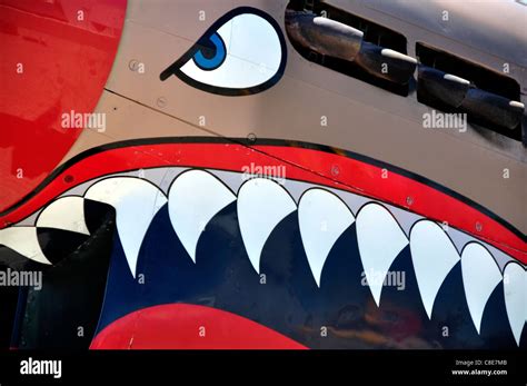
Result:
M459 254L443 228L429 220L417 221L411 228L410 251L421 300L430 319L437 293L459 261Z

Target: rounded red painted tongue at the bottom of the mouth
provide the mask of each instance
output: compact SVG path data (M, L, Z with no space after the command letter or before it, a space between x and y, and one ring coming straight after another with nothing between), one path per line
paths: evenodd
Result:
M306 349L256 321L188 304L143 308L99 333L91 349Z

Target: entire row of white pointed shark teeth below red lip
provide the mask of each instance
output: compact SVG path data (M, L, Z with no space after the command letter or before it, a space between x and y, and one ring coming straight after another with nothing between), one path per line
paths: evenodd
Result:
M0 245L36 261L50 264L40 248L37 227L89 235L83 214L84 199L108 204L116 209L117 230L133 277L142 239L165 205L168 204L177 236L196 263L196 248L207 224L221 209L237 201L241 237L257 273L269 235L282 219L297 211L304 248L318 286L332 246L355 222L360 259L377 305L382 280L374 279L372 275L382 273L385 276L396 257L409 245L419 293L429 318L443 281L460 261L465 295L478 333L487 300L501 280L507 316L518 345L527 320L527 271L516 260L506 264L501 271L489 250L476 240L467 243L459 254L441 226L427 219L416 221L407 237L385 206L371 201L354 215L339 196L321 188L306 190L297 205L281 185L266 178L247 180L238 195L205 170L180 174L172 181L168 195L146 179L106 178L88 188L83 197L64 196L52 201L39 214L34 227L0 230ZM379 239L379 235L382 238Z

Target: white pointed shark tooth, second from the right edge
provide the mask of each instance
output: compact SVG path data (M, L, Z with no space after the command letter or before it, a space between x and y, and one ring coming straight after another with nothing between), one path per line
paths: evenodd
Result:
M501 271L484 246L470 243L461 254L461 273L470 317L479 334L485 305L501 281Z

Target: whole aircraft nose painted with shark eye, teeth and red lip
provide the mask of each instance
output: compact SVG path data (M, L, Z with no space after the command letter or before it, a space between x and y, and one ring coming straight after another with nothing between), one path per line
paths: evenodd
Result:
M6 349L527 347L521 2L0 10Z

